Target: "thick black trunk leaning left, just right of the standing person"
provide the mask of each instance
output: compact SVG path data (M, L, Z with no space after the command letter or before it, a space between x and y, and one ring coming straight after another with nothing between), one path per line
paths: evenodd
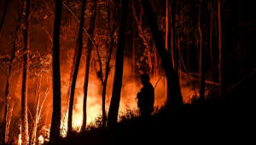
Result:
M183 107L183 97L181 95L178 73L173 69L172 59L166 50L165 43L161 39L160 30L157 25L157 20L154 19L154 14L148 0L143 0L143 8L148 19L148 24L152 32L156 49L162 61L162 67L166 73L167 80L167 104L171 104L172 108ZM172 80L172 82L171 82Z

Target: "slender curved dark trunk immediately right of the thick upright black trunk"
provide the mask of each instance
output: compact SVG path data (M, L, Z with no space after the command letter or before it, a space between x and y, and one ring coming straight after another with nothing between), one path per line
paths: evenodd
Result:
M77 60L75 62L75 68L73 72L73 81L71 84L71 92L70 92L70 101L69 101L69 109L68 109L68 120L67 120L67 135L72 133L72 117L73 117L73 98L74 98L74 91L76 87L76 81L79 73L79 64L82 56L83 50L83 27L84 27L84 11L85 11L86 0L82 2L82 10L81 10L81 18L80 18L80 26L79 26L79 37L78 37L78 44L79 51L77 54ZM75 54L76 55L76 54Z

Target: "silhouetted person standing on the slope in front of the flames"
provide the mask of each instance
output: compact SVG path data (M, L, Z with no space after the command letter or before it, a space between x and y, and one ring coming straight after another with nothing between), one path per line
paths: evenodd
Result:
M148 74L142 74L143 88L137 93L137 107L140 109L143 119L150 117L154 111L154 87L149 82Z

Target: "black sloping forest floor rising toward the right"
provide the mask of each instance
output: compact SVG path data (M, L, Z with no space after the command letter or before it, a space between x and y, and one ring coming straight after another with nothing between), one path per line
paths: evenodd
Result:
M193 102L181 110L162 107L148 120L128 113L112 128L91 128L55 144L244 144L250 139L249 130L253 131L245 91L247 88L242 87L229 96Z

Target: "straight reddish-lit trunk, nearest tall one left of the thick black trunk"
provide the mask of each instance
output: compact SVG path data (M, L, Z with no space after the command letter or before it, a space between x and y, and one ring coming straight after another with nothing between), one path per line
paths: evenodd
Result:
M25 15L25 22L26 28L23 32L24 35L24 55L23 55L23 74L22 74L22 90L21 90L21 139L22 144L26 144L29 142L29 135L28 135L28 120L27 120L27 78L28 78L28 49L29 49L29 9L30 9L30 0L26 0L26 15Z

